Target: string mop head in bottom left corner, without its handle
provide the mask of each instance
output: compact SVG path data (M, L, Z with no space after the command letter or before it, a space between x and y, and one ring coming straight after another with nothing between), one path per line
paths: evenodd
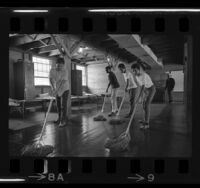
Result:
M45 157L52 153L54 150L53 146L50 145L28 145L22 149L23 156L40 156Z

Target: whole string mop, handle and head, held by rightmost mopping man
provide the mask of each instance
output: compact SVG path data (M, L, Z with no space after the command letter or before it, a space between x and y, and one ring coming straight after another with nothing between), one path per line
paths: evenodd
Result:
M141 94L142 94L142 92L140 92L140 95L138 96L138 99L135 103L135 106L134 106L134 109L133 109L133 112L132 112L132 115L131 115L131 119L128 123L128 127L127 127L126 131L123 132L120 136L118 136L115 139L107 138L106 141L105 141L105 144L104 144L105 148L110 149L111 151L116 151L116 152L117 151L122 152L122 151L125 151L128 148L129 142L131 140L130 127L131 127L131 123L132 123L133 117L135 115L136 108L137 108L137 105L139 103L139 99L140 99Z

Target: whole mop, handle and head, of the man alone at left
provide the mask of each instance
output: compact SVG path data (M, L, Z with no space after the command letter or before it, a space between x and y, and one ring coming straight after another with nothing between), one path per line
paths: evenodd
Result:
M45 117L45 120L44 120L44 123L43 123L42 131L40 133L40 137L39 137L38 141L36 143L32 144L32 145L25 146L22 149L22 155L24 155L24 156L40 156L40 157L44 156L45 157L48 154L53 152L53 150L54 150L53 146L45 145L42 142L42 137L43 137L43 134L44 134L44 130L46 128L46 122L47 122L49 112L51 110L53 100L54 100L53 98L50 100L49 107L48 107L48 110L47 110L47 113L46 113L46 117Z

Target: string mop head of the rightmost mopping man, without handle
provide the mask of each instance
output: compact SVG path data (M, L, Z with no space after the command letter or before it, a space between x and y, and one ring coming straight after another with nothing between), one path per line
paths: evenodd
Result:
M115 139L107 138L104 147L113 152L123 152L127 150L130 140L130 134L123 133Z

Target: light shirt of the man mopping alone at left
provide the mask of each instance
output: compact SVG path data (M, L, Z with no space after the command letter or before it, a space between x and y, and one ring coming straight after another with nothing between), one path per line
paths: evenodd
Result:
M58 96L61 96L65 91L69 90L69 78L65 68L59 71L52 68L49 77L53 79L56 89L60 86L61 81L65 80L65 83L58 89Z

